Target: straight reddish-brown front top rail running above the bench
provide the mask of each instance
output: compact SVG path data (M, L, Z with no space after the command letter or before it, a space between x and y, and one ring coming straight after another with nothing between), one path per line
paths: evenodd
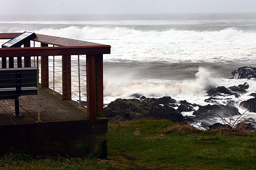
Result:
M0 57L110 54L110 45L0 48Z

